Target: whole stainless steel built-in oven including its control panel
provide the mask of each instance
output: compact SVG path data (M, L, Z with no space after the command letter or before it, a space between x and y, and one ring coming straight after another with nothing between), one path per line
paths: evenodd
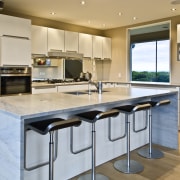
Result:
M30 67L0 67L0 95L31 93Z

